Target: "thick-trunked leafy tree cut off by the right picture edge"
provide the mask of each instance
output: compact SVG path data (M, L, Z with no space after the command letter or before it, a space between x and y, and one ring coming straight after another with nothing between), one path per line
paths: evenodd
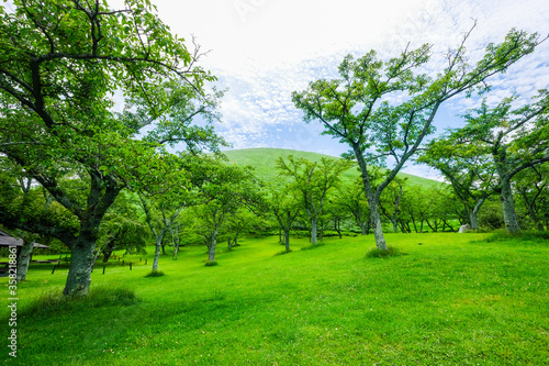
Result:
M483 148L491 157L497 177L494 190L500 196L505 228L511 233L520 232L513 178L524 169L549 162L549 91L539 90L534 98L536 102L514 108L517 99L516 95L504 98L493 108L484 99L480 108L463 115L463 127L450 130L450 138L459 142L460 148Z

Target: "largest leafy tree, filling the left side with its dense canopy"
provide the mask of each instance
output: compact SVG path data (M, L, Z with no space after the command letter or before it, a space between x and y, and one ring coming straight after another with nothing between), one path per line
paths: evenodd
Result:
M209 113L213 107L204 82L215 78L197 65L198 48L190 52L184 40L173 36L149 0L126 0L122 10L111 10L100 0L13 4L11 13L0 7L0 153L66 208L78 230L19 215L4 214L2 223L69 246L64 293L83 295L101 221L119 192L148 174L164 141L155 137L216 145L208 129L186 134L188 125L178 120L153 124L163 115L189 121L191 109L173 106L175 95L203 106L198 114ZM166 82L170 88L164 88ZM134 103L136 114L113 112L112 96L120 91ZM147 123L158 133L136 140ZM59 184L74 176L88 182L83 202Z

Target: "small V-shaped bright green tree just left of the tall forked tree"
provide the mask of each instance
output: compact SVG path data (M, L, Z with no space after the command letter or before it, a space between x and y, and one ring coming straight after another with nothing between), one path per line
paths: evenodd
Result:
M327 201L326 196L339 184L341 173L349 169L352 163L322 157L321 163L317 164L289 155L288 163L280 156L276 164L280 174L290 177L293 189L300 192L301 206L309 218L311 242L316 245L316 229Z

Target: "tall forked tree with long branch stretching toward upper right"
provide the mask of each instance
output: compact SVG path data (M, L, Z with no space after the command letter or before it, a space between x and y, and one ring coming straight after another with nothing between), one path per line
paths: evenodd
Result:
M381 193L434 132L433 121L442 102L472 92L475 87L484 89L485 79L505 71L541 42L537 34L512 30L502 44L489 44L483 58L471 67L464 47L471 31L456 49L448 52L447 67L436 77L414 75L430 58L430 45L426 44L417 49L406 48L388 62L378 59L374 51L356 60L348 55L339 65L339 79L320 79L305 91L292 93L305 122L320 121L323 134L350 147L346 156L354 156L360 167L380 249L388 249L379 212ZM408 97L401 104L390 103L406 93ZM386 158L392 167L374 188L367 162L379 165Z

